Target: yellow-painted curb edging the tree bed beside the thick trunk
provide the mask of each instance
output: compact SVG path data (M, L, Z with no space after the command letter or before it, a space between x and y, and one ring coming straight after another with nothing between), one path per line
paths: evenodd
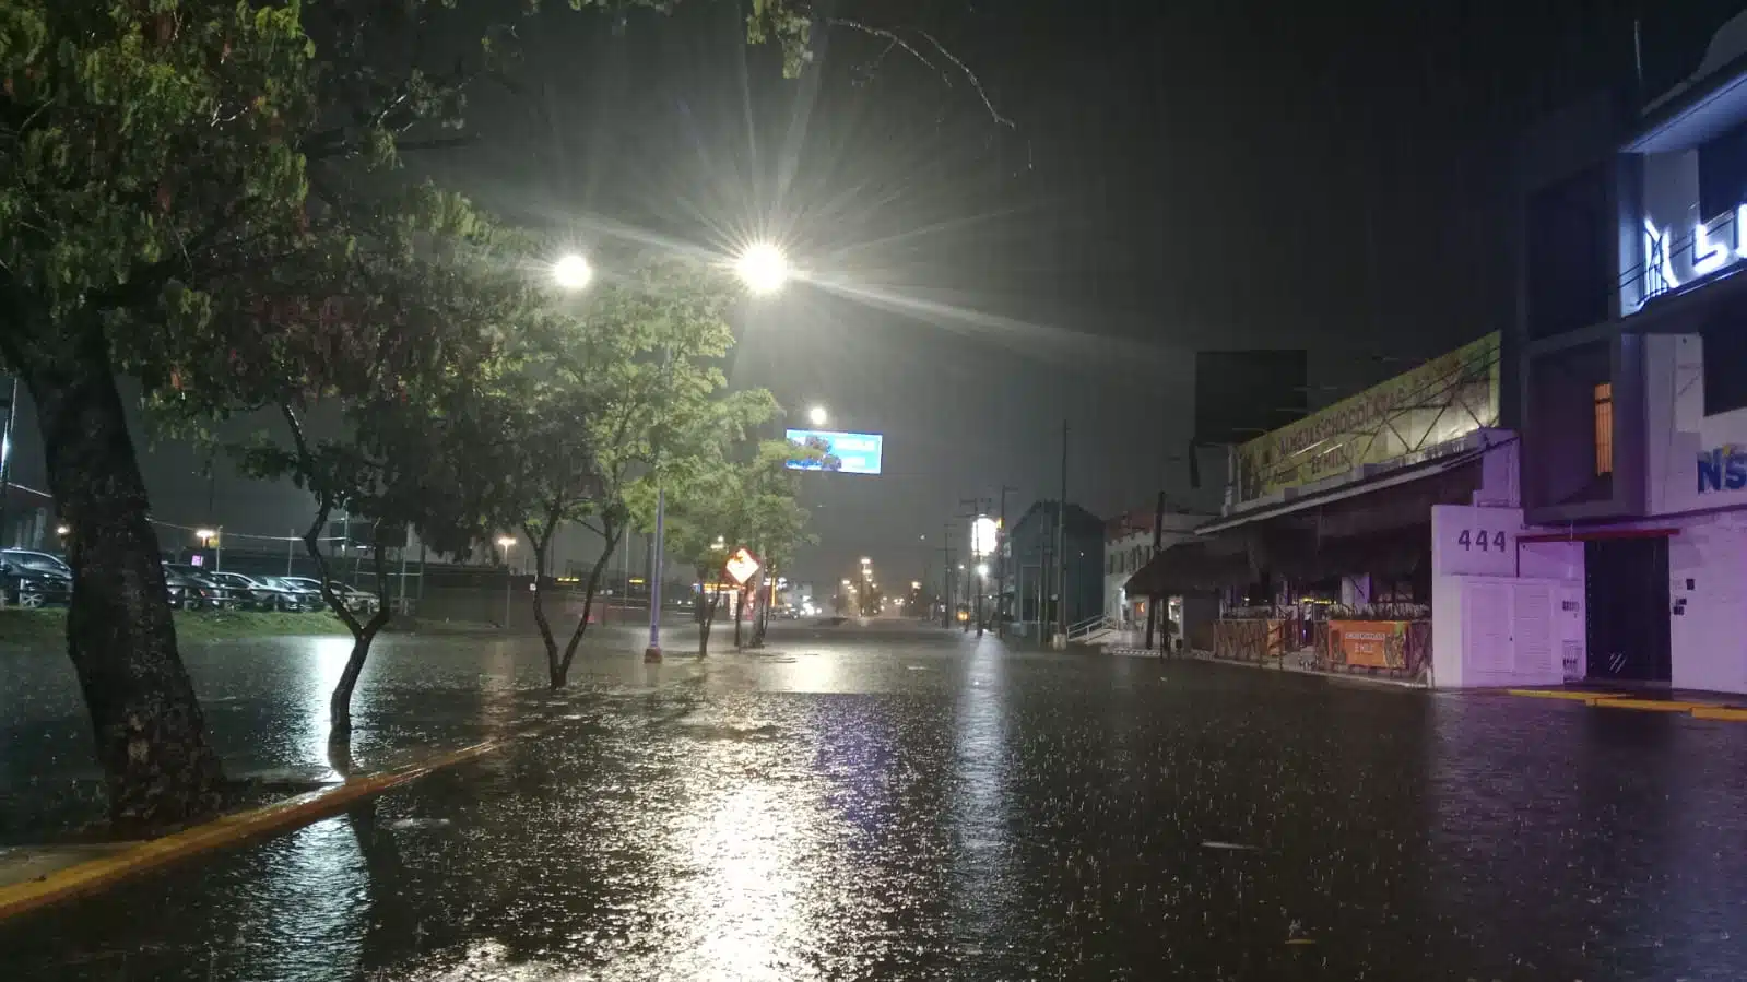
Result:
M348 779L344 785L215 818L204 825L183 828L162 839L140 842L114 856L56 870L42 879L0 886L0 921L114 886L124 879L143 875L211 849L239 846L264 839L274 832L309 825L311 821L346 811L353 802L418 781L433 771L484 757L500 746L503 746L501 741L475 743L419 764L409 764L381 774L365 774Z

